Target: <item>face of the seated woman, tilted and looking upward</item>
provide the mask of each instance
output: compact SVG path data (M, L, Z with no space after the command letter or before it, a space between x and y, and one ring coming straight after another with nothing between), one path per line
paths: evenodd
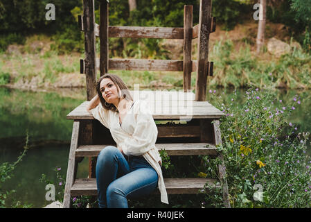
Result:
M107 103L118 101L117 85L110 78L103 78L100 82L100 92Z

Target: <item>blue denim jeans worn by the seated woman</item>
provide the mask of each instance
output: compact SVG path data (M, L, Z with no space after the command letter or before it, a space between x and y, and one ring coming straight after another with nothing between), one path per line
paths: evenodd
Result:
M158 174L143 157L131 156L127 162L118 148L106 146L97 158L96 182L100 208L127 208L127 198L154 191Z

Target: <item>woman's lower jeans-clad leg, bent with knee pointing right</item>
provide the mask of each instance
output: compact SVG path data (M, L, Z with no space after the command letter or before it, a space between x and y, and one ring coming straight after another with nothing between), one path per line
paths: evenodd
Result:
M107 188L107 207L127 208L127 198L149 195L158 184L158 174L151 168L139 168L114 180Z

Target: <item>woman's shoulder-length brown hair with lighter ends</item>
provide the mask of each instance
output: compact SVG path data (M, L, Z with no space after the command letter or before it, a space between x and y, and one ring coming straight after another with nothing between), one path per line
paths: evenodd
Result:
M130 90L127 88L127 86L125 85L125 83L123 82L123 80L119 76L116 76L114 74L105 74L98 79L97 84L96 84L96 91L97 91L98 97L100 99L100 103L103 105L103 108L105 108L107 110L112 110L115 112L118 111L116 109L116 106L114 106L114 104L106 103L105 99L103 98L102 93L100 92L100 83L104 78L110 78L110 80L112 80L114 85L118 86L118 87L116 87L116 90L118 91L118 97L119 98L124 98L127 101L133 101L132 96L130 94ZM121 92L119 89L121 90Z

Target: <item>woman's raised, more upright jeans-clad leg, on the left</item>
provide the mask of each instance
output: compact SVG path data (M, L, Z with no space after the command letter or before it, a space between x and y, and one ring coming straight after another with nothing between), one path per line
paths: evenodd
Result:
M98 191L98 205L107 207L106 191L108 185L130 172L130 166L125 157L115 146L107 146L100 151L96 163L96 183Z

